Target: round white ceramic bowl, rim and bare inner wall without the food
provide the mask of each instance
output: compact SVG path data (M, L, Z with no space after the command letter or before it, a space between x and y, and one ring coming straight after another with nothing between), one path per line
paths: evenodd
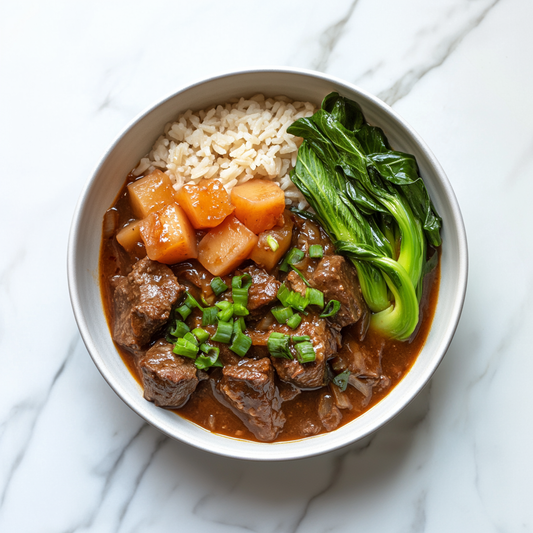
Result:
M442 274L433 327L413 368L396 388L362 416L331 433L280 443L249 442L210 433L146 401L115 349L98 286L102 217L128 172L150 150L165 124L180 112L259 92L320 104L331 91L356 100L367 121L380 126L395 149L416 156L442 216ZM241 71L196 83L136 118L104 154L86 184L74 214L68 250L69 288L78 327L94 363L120 398L173 438L213 453L255 460L296 459L334 450L365 437L401 411L431 378L448 349L463 306L467 270L466 235L455 195L439 163L415 131L390 107L354 85L317 72L280 68Z

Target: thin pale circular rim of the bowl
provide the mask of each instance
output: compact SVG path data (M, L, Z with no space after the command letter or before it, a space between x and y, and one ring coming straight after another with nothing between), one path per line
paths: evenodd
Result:
M195 87L198 87L200 85L204 85L208 82L214 82L216 80L221 80L224 78L231 78L234 76L240 76L240 75L253 75L253 74L259 74L259 73L287 73L287 74L296 74L296 75L302 75L307 76L311 78L319 78L322 81L331 82L335 85L340 85L342 87L345 87L347 90L352 91L356 94L360 94L362 97L366 98L368 101L372 102L374 106L379 108L381 111L384 111L387 115L389 115L394 121L401 124L402 128L405 129L411 139L415 142L415 144L418 146L418 148L424 153L425 157L427 158L430 165L433 167L433 170L435 171L435 174L438 176L441 186L445 191L446 198L450 205L450 211L451 211L451 218L454 222L454 228L457 232L456 238L457 238L457 255L458 255L458 272L459 272L459 279L456 280L457 290L456 295L457 298L453 302L453 306L450 311L451 318L448 320L447 328L444 331L443 337L445 339L444 342L441 342L439 344L439 354L438 357L433 357L432 364L428 365L426 372L423 374L423 377L420 378L420 383L418 386L413 389L410 396L404 400L403 402L398 402L397 405L394 406L393 409L391 409L388 413L388 416L377 418L373 423L369 424L367 429L360 434L354 436L351 439L345 439L342 442L334 442L333 444L325 447L324 449L316 449L316 450L304 450L304 451L296 451L292 453L286 453L282 456L273 456L271 454L262 456L261 454L258 454L257 456L250 457L248 455L243 455L242 453L239 453L238 446L236 446L236 451L220 451L220 450L213 450L212 447L208 446L207 443L183 438L182 436L177 436L170 432L164 425L158 423L157 421L154 421L150 418L149 410L143 410L140 408L137 408L136 405L134 405L132 402L128 400L124 392L121 390L121 387L113 377L113 375L108 372L108 369L106 368L103 359L100 357L99 351L93 341L88 322L86 320L86 317L83 312L83 304L80 299L80 293L78 291L78 276L76 272L76 255L78 250L78 234L80 232L80 223L81 223L81 216L83 212L83 206L85 204L85 201L93 187L94 181L96 180L96 177L98 176L100 170L104 166L106 160L108 157L113 153L117 145L122 141L122 139L126 136L126 134L140 121L142 121L146 116L148 116L150 113L152 113L155 109L158 107L164 105L169 100L177 97L179 94L188 91L190 89L194 89ZM109 386L113 389L113 391L119 396L119 398L128 405L135 413L137 413L141 418L143 418L147 423L150 425L156 427L158 430L162 431L167 436L178 439L181 442L185 442L191 446L194 446L196 448L202 449L204 451L208 451L210 453L215 453L217 455L222 455L226 457L236 458L236 459L243 459L243 460L265 460L265 461L283 461L283 460L293 460L293 459L302 459L306 457L312 457L321 455L324 453L328 453L331 451L334 451L336 449L342 448L344 446L347 446L349 444L352 444L358 440L361 440L368 435L374 433L376 430L381 428L382 426L386 425L388 422L390 422L393 418L395 418L409 403L413 401L413 399L420 393L420 391L426 386L426 384L429 382L437 368L439 367L440 363L442 362L444 355L446 354L452 340L455 334L455 331L457 329L457 326L459 324L459 320L461 317L461 313L464 306L465 296L466 296L466 289L467 289L467 282L468 282L468 246L467 246L467 237L466 237L466 230L464 225L464 220L461 214L461 210L459 208L459 204L456 198L456 195L453 191L453 188L443 170L440 163L436 159L433 152L429 149L426 142L420 137L420 135L412 128L412 126L406 122L404 118L402 118L394 109L392 109L388 104L380 100L375 95L369 93L368 91L362 89L361 87L358 87L355 84L352 84L350 82L347 82L343 79L337 78L335 76L331 76L328 74L324 74L321 72L316 72L310 69L302 69L302 68L292 68L292 67L284 67L284 66L265 66L265 67L253 67L253 68L247 68L247 69L239 69L239 70L232 70L232 71L223 71L217 74L214 74L212 76L209 76L208 78L202 78L198 79L192 83L189 83L187 85L183 85L179 87L177 90L174 90L164 96L163 98L157 100L155 103L151 104L147 108L145 108L143 111L141 111L137 116L135 116L119 133L116 135L112 143L109 145L109 147L105 150L103 155L101 156L98 163L93 168L93 171L90 173L88 179L85 181L85 184L81 190L80 196L78 198L78 201L76 203L72 222L70 226L69 231L69 237L68 237L68 249L67 249L67 279L68 279L68 287L69 287L69 295L70 295L70 301L72 305L72 309L74 312L74 317L78 326L78 329L80 331L82 340L89 352L89 355L91 356L94 364L98 368L99 372L103 376L103 378L106 380L106 382L109 384ZM407 375L407 374L406 374ZM404 378L405 379L405 376ZM368 413L370 411L366 411ZM362 415L364 416L364 414ZM346 426L342 426L346 427ZM339 430L342 428L339 428ZM336 431L339 431L336 430ZM332 432L335 433L335 432ZM220 436L218 434L215 434L217 436ZM331 433L326 434L331 435ZM231 437L225 437L221 436L224 439L229 439L233 442L245 442L249 443L250 441L241 440L237 438L231 438ZM320 437L320 436L318 436ZM305 439L301 439L301 441L310 441L313 440L316 437L307 437ZM262 446L269 446L269 447L275 447L280 451L279 449L283 447L283 445L289 445L294 444L299 441L284 441L284 442L276 442L276 443L259 443Z

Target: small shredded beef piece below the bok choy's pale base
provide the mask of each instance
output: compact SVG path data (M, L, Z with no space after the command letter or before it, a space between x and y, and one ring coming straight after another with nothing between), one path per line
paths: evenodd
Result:
M335 374L349 370L359 378L379 379L381 376L381 355L383 343L368 348L350 336L345 336L342 348L331 360Z

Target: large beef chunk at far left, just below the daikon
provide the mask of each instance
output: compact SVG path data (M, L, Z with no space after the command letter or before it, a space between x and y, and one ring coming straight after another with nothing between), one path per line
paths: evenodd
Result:
M165 324L184 291L170 268L147 257L117 281L113 338L131 350L146 345Z

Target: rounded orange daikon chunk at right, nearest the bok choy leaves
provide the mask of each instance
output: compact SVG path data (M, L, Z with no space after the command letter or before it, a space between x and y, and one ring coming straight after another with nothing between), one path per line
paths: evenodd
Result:
M277 183L253 179L231 190L235 216L256 235L273 228L285 209L285 193Z

